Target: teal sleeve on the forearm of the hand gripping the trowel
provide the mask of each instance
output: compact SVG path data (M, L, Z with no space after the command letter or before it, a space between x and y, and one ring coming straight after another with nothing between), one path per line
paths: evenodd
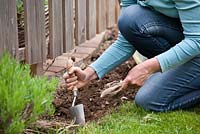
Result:
M135 49L120 33L118 39L113 43L90 67L92 67L99 78L128 60Z

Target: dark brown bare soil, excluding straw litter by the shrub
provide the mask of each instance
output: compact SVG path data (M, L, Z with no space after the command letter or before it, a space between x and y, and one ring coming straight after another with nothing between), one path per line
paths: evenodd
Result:
M116 40L117 33L118 31L116 28L112 28L106 32L100 50L91 57L88 64L95 61L105 51L105 49ZM107 96L101 98L100 95L107 83L123 80L126 77L128 70L134 66L135 62L131 58L109 74L105 75L102 79L93 80L86 87L79 89L76 104L84 105L86 121L99 119L105 114L108 114L110 110L116 109L124 103L124 101L133 101L136 93L136 90L134 89L126 89L113 97ZM54 115L55 119L69 121L72 119L69 112L72 100L72 91L68 91L65 88L59 88L57 90L53 101L53 104L56 107L56 113Z

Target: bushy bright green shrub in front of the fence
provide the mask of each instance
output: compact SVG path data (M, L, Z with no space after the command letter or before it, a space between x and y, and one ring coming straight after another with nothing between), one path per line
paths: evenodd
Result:
M57 80L30 76L28 65L20 65L8 54L0 57L0 133L21 133L44 113L52 114Z

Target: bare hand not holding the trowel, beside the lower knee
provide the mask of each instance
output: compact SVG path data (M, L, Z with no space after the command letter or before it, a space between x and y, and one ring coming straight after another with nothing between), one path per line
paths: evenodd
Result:
M156 58L146 60L129 71L123 81L122 88L126 89L128 86L141 87L152 73L158 71L160 71L160 64Z

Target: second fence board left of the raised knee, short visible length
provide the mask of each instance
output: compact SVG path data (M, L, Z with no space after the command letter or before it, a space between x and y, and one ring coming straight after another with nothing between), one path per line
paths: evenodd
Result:
M107 27L112 27L115 24L115 0L107 0Z

